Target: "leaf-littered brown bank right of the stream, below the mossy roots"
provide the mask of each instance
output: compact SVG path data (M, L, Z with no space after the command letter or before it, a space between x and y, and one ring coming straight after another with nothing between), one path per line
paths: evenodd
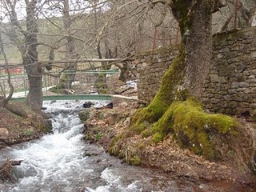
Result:
M114 139L129 126L130 118L137 108L137 102L119 98L114 100L113 109L83 110L80 118L86 127L85 140L103 146L106 151L117 154L118 158L129 164L155 168L181 178L229 183L226 185L239 184L248 188L248 191L256 187L254 175L246 167L239 167L228 159L224 162L210 162L190 150L181 149L170 135L158 144L150 142L150 137L127 137L118 143L122 153L113 153L110 147ZM251 126L247 122L243 123Z

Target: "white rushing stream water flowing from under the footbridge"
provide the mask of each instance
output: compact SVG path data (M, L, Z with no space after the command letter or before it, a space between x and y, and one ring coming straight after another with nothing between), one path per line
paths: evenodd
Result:
M82 103L44 102L46 113L53 116L54 134L0 150L0 161L24 159L14 167L17 181L0 184L0 191L242 191L237 186L230 190L218 182L198 183L122 164L101 147L83 142L84 126L78 118Z

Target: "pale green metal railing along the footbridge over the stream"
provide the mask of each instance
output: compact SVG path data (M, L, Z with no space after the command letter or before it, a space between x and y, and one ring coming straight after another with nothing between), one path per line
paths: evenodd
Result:
M118 78L118 70L65 71L58 78L55 74L42 76L43 96L82 95L82 94L113 94L114 82ZM29 91L27 74L11 74L14 86L14 98L26 97ZM0 95L10 92L8 75L0 75ZM63 82L66 86L63 86Z

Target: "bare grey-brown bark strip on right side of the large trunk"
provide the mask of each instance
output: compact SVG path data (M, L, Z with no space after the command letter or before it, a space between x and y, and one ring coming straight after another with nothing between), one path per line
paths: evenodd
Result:
M201 0L194 5L192 17L190 30L183 34L183 38L186 38L184 86L190 95L200 99L203 82L210 70L212 55L212 16L206 1Z

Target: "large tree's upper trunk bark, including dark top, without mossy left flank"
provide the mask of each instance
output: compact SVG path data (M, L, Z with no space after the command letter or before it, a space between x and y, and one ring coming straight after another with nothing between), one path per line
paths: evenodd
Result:
M210 70L212 14L225 6L222 0L174 0L171 7L186 47L186 75L183 88L200 100L203 82Z

